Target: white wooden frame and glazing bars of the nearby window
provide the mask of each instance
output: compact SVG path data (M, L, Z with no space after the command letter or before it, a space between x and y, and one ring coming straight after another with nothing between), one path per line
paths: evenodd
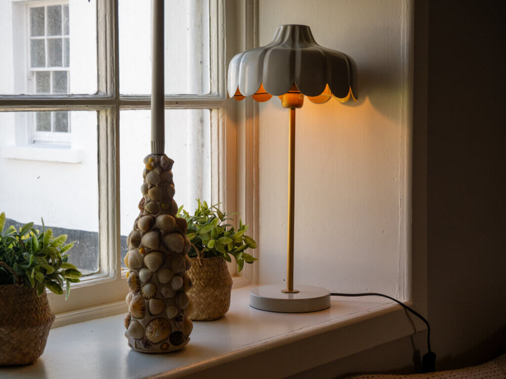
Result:
M235 209L235 104L227 102L226 68L235 54L235 23L225 22L225 9L235 16L232 0L209 0L210 93L165 97L165 109L209 109L211 117L211 201ZM145 6L149 6L146 2ZM149 109L150 95L119 93L118 0L97 0L98 91L95 94L1 95L0 111L95 110L98 120L99 270L72 286L71 296L48 292L62 323L123 311L128 292L120 263L119 111ZM235 102L234 102L235 103ZM146 152L148 154L149 152ZM235 274L235 265L230 265ZM244 275L243 275L244 276ZM238 283L246 284L244 280ZM107 304L107 305L104 305ZM65 313L63 313L65 312Z

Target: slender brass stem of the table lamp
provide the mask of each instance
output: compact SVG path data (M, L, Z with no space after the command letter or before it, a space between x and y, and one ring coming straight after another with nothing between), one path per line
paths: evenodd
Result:
M286 290L294 294L293 289L293 215L295 208L295 108L289 108L288 117L288 239L286 246Z

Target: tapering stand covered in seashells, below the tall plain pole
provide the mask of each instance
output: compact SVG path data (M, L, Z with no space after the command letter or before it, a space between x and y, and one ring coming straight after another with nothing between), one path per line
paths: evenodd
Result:
M176 216L178 206L172 166L166 155L144 158L144 182L139 217L134 222L124 259L129 294L125 336L129 346L144 353L182 349L190 341L191 302L186 294L190 241L186 221Z

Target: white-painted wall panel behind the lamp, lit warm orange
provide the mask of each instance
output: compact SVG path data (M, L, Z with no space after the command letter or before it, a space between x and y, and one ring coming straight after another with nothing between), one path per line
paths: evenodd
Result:
M403 297L409 135L406 2L260 1L260 45L281 24L356 62L356 103L297 110L295 284ZM260 105L259 280L285 279L288 111Z

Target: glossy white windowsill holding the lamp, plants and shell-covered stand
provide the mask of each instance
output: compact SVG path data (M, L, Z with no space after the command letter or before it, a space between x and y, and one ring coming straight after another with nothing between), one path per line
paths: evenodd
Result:
M249 307L250 286L232 291L226 316L194 322L191 341L170 354L132 351L123 314L51 330L31 366L0 368L3 379L284 377L408 335L401 307L383 299L332 297L329 309L272 313ZM418 324L417 324L418 325Z

